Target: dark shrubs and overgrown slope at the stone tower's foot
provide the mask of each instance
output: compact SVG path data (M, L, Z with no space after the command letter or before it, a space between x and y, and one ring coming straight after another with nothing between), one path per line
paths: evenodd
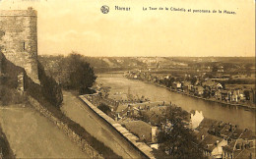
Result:
M43 98L51 105L59 108L62 103L62 92L60 86L57 82L45 75L43 67L38 62L38 79L40 85L36 84L30 79L25 70L18 67L8 61L5 56L0 53L1 61L1 75L0 75L0 102L3 105L10 104L21 104L27 103L26 93L31 95L34 99L38 100ZM18 76L24 76L24 89L23 91L18 91L19 81Z

